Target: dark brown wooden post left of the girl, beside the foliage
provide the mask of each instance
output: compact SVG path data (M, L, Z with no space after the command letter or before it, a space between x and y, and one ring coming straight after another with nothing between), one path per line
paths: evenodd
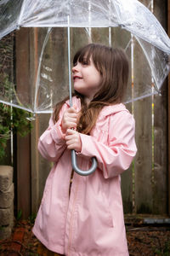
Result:
M16 32L16 84L17 93L29 91L29 29ZM22 218L31 213L31 153L30 135L17 137L17 210Z

